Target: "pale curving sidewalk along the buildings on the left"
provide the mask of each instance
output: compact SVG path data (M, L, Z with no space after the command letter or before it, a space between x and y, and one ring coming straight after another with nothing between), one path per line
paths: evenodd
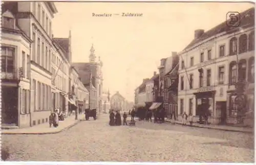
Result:
M78 120L75 120L75 115L68 116L65 121L59 121L59 126L54 128L49 127L49 122L36 125L33 127L21 128L21 129L2 129L2 134L52 134L59 133L70 127L75 126L80 121L84 120L84 114L78 114Z

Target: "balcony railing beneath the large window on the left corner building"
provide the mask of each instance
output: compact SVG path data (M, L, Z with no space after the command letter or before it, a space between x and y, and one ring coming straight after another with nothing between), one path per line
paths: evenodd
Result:
M23 70L22 67L13 69L12 72L1 72L1 80L2 81L17 81L23 79Z

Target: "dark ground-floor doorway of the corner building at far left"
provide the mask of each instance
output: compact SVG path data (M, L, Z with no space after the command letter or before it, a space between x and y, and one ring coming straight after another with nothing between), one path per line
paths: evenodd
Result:
M2 123L18 125L18 88L2 87Z

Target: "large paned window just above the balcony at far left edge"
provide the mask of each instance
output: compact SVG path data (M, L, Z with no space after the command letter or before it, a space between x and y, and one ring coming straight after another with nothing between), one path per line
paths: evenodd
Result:
M7 46L1 46L2 72L13 73L15 49Z

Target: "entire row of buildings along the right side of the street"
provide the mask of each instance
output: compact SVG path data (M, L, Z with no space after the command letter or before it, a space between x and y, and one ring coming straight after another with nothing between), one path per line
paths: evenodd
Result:
M196 30L195 38L183 51L161 59L159 74L144 79L136 88L135 105L160 102L156 106L163 106L168 114L174 111L179 117L186 112L198 120L198 107L206 101L210 123L236 124L243 117L243 124L253 125L254 8L240 17L239 26L222 22L207 32ZM241 112L239 105L243 102L246 106Z

